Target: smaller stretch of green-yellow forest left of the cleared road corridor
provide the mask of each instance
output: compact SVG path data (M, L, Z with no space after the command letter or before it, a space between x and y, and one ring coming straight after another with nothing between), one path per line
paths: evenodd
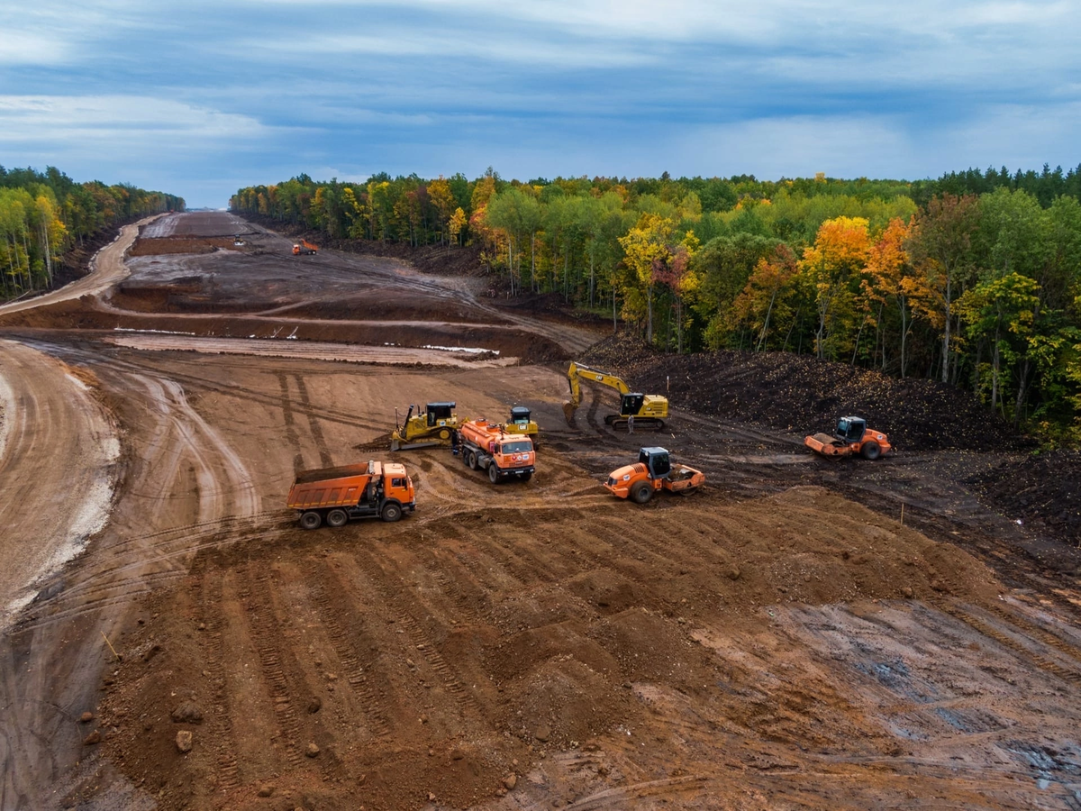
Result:
M183 198L123 183L76 183L55 167L0 165L0 301L52 287L72 247L169 210L183 211Z

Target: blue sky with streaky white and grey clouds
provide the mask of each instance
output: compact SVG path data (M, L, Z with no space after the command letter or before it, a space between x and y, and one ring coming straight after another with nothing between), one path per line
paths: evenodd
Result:
M1081 163L1081 0L5 2L0 164L363 180Z

